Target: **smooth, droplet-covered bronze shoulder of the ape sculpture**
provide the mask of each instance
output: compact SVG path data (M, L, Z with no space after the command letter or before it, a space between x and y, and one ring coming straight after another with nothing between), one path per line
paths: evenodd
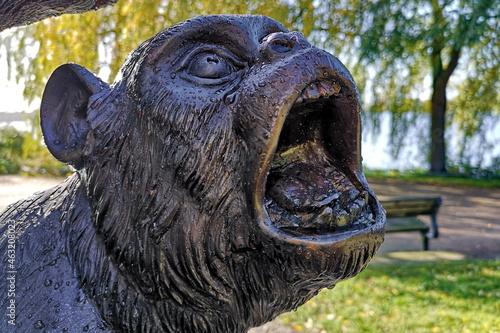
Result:
M102 332L68 259L64 214L71 179L0 213L1 332Z

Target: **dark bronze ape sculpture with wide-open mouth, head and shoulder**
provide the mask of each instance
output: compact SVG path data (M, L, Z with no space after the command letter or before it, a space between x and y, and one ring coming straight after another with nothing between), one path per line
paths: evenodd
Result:
M245 332L358 274L385 224L359 113L340 61L263 16L175 25L112 86L62 65L41 126L77 171L0 216L2 331Z

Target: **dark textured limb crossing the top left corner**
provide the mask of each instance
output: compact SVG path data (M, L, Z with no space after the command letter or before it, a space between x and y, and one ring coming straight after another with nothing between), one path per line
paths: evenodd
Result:
M96 10L117 0L0 0L0 31L61 14Z

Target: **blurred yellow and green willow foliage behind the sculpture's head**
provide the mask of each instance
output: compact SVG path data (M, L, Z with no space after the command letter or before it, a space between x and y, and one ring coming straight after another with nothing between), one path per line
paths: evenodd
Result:
M431 114L429 128L415 138L426 143L421 154L431 172L464 170L453 163L466 165L467 152L477 149L469 138L500 118L498 0L119 0L99 11L10 29L0 48L9 75L33 101L62 63L78 63L112 82L143 40L196 15L225 13L270 16L339 57L358 83L373 131L378 115L390 112L394 156L415 115ZM446 156L444 133L452 124L462 138L458 162Z

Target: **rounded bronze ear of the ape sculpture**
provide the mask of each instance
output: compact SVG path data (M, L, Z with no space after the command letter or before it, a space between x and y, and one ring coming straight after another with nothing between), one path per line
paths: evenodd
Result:
M55 158L79 169L89 123L87 107L92 95L108 85L82 66L65 64L49 78L43 92L40 124L45 144Z

